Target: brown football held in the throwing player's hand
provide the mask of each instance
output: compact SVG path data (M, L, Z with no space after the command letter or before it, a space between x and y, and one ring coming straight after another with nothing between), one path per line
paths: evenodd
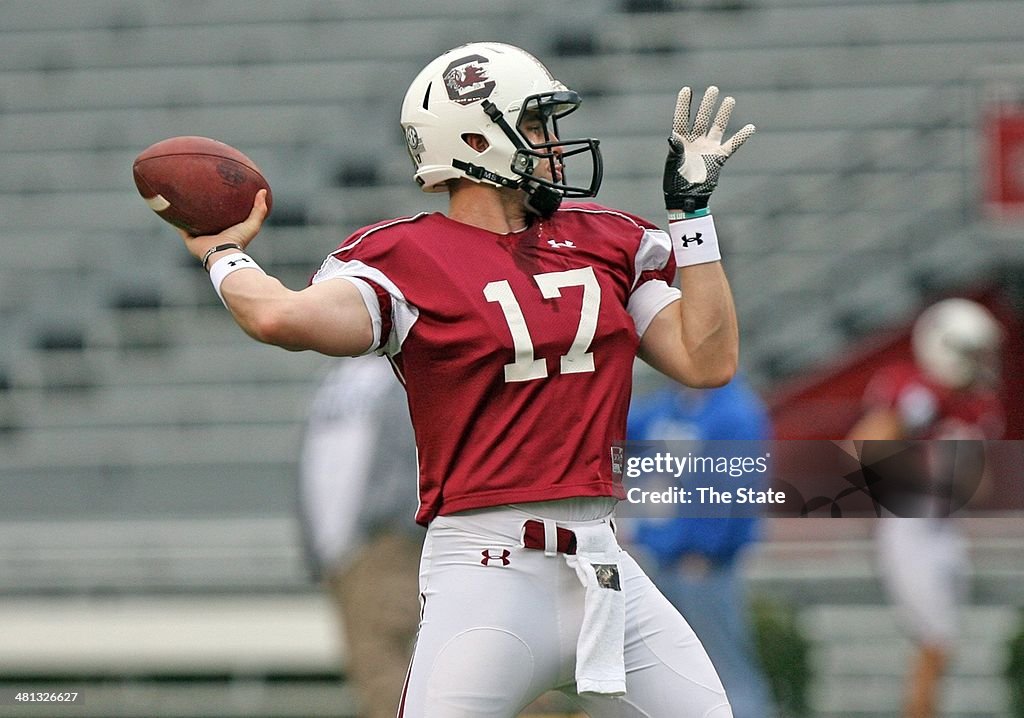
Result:
M150 208L189 235L216 235L249 216L259 189L270 185L256 163L209 137L170 137L152 144L132 165L135 186Z

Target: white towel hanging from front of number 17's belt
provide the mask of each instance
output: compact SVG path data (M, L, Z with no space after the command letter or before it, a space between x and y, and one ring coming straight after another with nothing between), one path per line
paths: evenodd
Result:
M622 695L626 692L626 599L618 544L608 523L572 530L577 552L565 560L586 589L577 640L577 691Z

